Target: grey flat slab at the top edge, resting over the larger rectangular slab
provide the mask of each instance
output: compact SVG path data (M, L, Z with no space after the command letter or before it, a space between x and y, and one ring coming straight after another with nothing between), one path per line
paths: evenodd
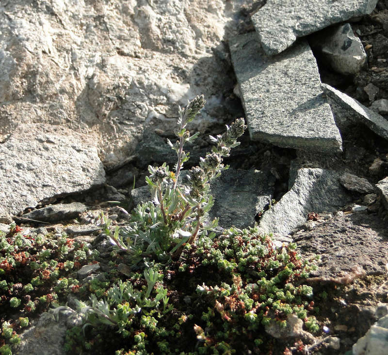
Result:
M352 17L370 14L377 0L268 0L252 15L264 51L277 54L298 37Z

